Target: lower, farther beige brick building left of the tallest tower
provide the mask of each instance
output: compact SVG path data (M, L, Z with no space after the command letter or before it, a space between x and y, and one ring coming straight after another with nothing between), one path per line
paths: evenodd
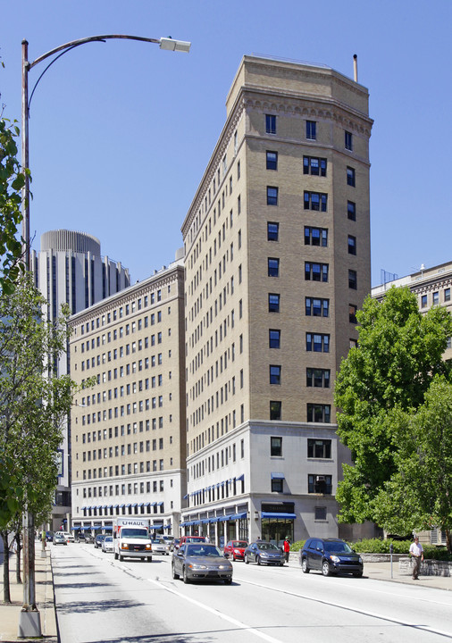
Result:
M72 523L178 531L185 495L182 263L71 318ZM161 525L161 526L160 526Z

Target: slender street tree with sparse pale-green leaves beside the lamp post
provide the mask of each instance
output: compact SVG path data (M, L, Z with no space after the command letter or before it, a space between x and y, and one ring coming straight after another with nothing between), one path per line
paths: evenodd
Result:
M0 475L2 532L24 511L50 514L63 419L71 408L71 380L56 372L67 346L67 312L47 321L44 304L29 275L21 276L11 294L0 294L0 459L7 472Z

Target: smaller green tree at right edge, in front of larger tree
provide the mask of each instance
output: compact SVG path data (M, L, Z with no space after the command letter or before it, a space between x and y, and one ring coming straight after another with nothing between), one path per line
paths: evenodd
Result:
M452 529L452 385L435 377L417 410L393 414L397 471L375 498L375 519L397 533Z

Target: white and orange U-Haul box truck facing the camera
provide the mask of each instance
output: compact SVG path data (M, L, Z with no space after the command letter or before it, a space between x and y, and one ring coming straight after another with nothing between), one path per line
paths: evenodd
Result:
M123 558L143 558L152 561L152 544L146 518L116 516L113 519L113 553Z

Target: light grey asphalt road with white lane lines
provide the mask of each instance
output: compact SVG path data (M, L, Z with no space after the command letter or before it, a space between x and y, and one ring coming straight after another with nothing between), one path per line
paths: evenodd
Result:
M52 556L61 643L452 639L452 594L439 589L241 562L231 586L184 585L172 580L170 556L119 563L81 544Z

